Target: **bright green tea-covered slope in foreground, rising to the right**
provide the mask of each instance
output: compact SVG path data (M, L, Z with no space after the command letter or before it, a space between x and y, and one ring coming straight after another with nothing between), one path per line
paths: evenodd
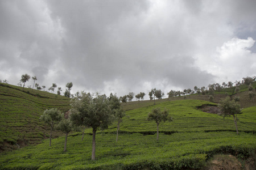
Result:
M1 169L199 169L215 154L233 154L248 158L256 150L256 107L246 108L238 116L236 134L231 117L223 119L202 112L203 100L167 101L127 111L118 142L115 142L113 124L108 130L97 131L96 161L92 162L92 129L86 129L84 141L81 133L68 137L67 152L63 152L64 137L48 139L42 144L0 154ZM170 109L173 122L159 125L147 121L154 107ZM115 122L116 123L116 122Z

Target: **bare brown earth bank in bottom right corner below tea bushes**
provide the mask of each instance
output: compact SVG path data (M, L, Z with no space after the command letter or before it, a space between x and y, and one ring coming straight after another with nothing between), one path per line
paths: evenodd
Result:
M204 169L210 170L254 170L255 167L255 159L249 158L247 160L242 161L242 163L233 155L215 155L212 159L210 159L207 163L207 166Z

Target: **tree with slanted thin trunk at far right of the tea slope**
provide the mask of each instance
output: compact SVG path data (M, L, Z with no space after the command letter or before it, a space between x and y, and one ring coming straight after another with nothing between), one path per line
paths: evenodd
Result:
M240 104L236 103L234 100L230 100L229 97L226 97L226 99L220 101L218 107L220 108L221 114L224 117L233 116L237 134L239 134L237 128L237 113L240 113Z

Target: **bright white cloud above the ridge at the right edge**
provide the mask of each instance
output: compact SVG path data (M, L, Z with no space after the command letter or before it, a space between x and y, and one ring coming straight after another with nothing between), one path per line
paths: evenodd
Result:
M216 76L217 82L241 80L245 76L256 74L256 53L250 48L255 40L233 38L216 48L208 62L200 63L199 67ZM198 62L199 63L199 62Z

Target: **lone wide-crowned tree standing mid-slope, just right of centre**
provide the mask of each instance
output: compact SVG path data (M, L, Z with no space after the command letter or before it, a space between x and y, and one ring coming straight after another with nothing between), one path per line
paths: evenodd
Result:
M167 109L164 109L164 111L161 111L160 108L154 108L154 109L152 109L152 112L148 113L147 120L148 121L154 120L156 122L156 126L157 126L156 140L157 141L158 141L158 137L159 137L158 126L159 126L160 122L166 122L167 120L172 121L172 118L169 117L168 115L169 115L169 113L168 113Z

